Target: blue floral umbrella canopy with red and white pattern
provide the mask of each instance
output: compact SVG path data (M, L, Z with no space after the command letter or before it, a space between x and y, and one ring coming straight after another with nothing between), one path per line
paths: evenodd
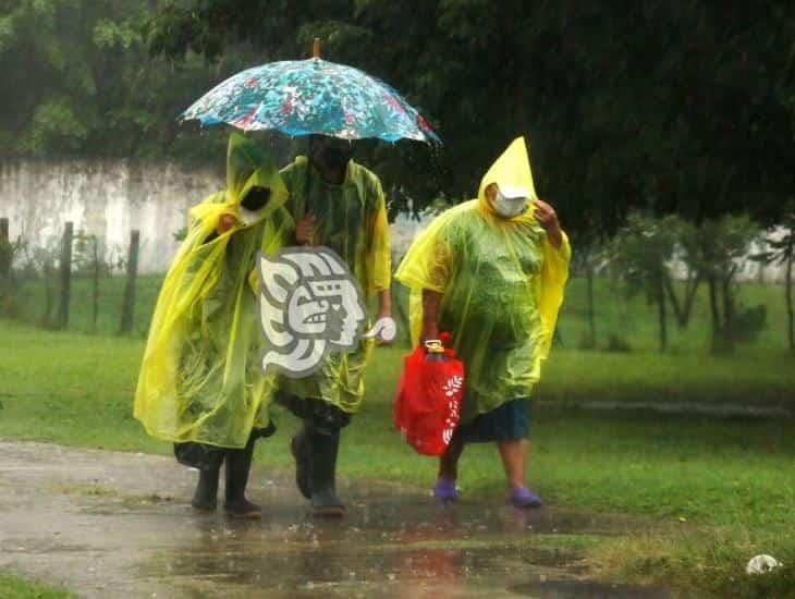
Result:
M281 61L228 78L183 112L204 125L277 130L292 136L441 143L426 120L382 81L320 58Z

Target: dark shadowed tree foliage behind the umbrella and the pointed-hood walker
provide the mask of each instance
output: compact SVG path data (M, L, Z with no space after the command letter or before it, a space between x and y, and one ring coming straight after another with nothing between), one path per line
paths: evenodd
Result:
M525 134L567 227L584 231L588 206L611 231L629 208L779 217L795 183L794 32L786 0L195 0L161 11L149 40L209 59L247 41L264 61L303 58L320 36L327 58L393 84L445 140L440 156L369 148L387 188L468 197Z

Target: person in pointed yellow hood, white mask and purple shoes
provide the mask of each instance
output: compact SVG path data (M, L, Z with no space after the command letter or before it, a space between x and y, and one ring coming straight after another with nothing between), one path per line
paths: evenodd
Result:
M480 183L477 199L439 216L412 244L395 278L411 288L415 345L452 334L464 362L461 424L440 459L438 500L457 499L468 442L496 442L516 506L541 504L525 480L529 398L549 355L571 247L536 196L524 138Z

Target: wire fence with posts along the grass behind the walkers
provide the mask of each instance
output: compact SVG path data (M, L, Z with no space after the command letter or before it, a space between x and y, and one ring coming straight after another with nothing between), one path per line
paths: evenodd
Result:
M163 274L138 273L138 231L130 232L126 247L108 248L99 235L75 231L71 222L46 246L9 239L9 229L8 219L0 218L0 318L89 334L146 335ZM627 272L580 250L555 341L566 349L610 352L790 349L792 293L785 285L758 278L733 285L721 296L715 319L715 290L706 282L672 277L657 296L634 284ZM407 344L408 291L393 285L392 303L400 342ZM727 309L729 321L720 318ZM731 347L718 347L721 340Z

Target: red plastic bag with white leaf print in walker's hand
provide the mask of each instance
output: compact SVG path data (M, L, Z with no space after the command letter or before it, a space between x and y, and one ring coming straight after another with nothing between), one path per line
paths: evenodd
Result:
M450 335L442 335L447 343ZM464 363L453 350L444 359L428 362L420 345L404 358L403 375L394 400L394 425L417 453L441 455L461 418L464 396Z

